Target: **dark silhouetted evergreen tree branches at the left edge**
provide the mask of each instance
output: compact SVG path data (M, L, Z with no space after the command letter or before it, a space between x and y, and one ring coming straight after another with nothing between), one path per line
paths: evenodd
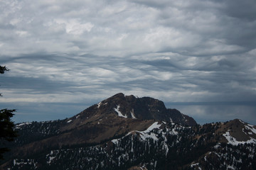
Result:
M5 66L0 66L0 74L9 71ZM1 94L0 94L1 96ZM0 159L3 159L4 152L9 151L8 148L4 147L6 142L11 142L17 136L14 130L14 122L11 118L14 116L15 109L2 109L0 110Z

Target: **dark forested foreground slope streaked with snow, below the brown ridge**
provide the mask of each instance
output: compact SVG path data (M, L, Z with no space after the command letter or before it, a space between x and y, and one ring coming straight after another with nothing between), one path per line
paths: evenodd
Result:
M126 120L126 119L125 119ZM15 157L9 169L255 169L256 143L226 141L228 123L184 126L154 121L95 145L73 145L33 157ZM248 126L246 123L241 125ZM248 126L253 128L253 126ZM253 129L250 129L253 131ZM231 144L231 145L230 145ZM246 163L245 163L246 162Z

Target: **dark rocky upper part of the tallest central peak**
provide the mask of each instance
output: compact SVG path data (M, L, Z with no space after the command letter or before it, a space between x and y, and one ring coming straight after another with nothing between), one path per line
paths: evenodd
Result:
M139 120L163 120L182 125L196 125L196 121L176 109L167 109L163 101L151 97L115 94L82 111L82 117L92 115L117 115L121 118Z

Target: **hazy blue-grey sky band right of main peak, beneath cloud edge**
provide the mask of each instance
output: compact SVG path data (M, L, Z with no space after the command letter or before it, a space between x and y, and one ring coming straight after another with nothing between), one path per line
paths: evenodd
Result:
M176 108L181 113L190 115L200 124L225 122L239 118L255 125L256 103L171 103L169 108Z

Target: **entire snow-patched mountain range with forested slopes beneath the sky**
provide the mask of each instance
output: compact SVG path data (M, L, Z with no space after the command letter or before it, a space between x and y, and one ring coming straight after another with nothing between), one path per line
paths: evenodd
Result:
M0 169L256 169L255 125L198 125L150 97L116 94L72 118L16 130Z

